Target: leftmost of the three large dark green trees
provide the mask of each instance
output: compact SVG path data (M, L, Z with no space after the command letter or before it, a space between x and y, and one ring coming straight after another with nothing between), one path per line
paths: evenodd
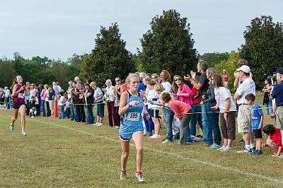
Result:
M129 72L134 72L132 54L125 47L126 42L121 39L117 23L108 29L101 27L100 33L96 35L96 46L89 59L86 57L86 78L92 78L101 86L106 79L114 81L116 76L125 78Z

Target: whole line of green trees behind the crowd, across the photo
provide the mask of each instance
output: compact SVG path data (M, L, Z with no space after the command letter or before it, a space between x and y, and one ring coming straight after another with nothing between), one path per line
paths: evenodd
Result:
M161 16L152 18L150 29L140 39L141 49L137 49L137 54L126 49L119 25L112 23L108 28L100 28L90 54L74 54L67 62L47 57L24 59L18 53L13 60L1 59L0 86L11 83L16 74L23 75L25 81L50 83L56 80L65 86L74 76L91 78L98 86L108 78L112 81L116 76L125 78L135 71L159 73L166 69L172 75L184 76L196 69L198 59L206 60L219 74L226 69L229 86L232 86L236 62L243 58L248 60L253 79L260 88L268 75L283 66L282 23L273 23L271 16L260 16L251 20L243 35L245 43L237 51L200 55L194 47L188 19L175 10L163 11Z

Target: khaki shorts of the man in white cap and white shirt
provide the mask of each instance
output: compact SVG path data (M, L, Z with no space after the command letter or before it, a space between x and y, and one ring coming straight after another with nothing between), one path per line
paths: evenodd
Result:
M238 108L238 133L246 133L252 131L250 124L252 107L250 105L241 105Z

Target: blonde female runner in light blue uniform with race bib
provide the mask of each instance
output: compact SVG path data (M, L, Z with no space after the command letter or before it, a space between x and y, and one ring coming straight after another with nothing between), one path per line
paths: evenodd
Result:
M129 156L129 140L133 139L137 149L137 170L136 177L139 182L144 182L144 175L141 173L141 164L144 148L144 128L141 124L141 114L145 113L149 118L149 113L143 104L142 98L137 92L139 88L139 76L129 74L126 79L129 90L122 93L120 98L119 114L122 116L120 125L120 143L122 147L120 180L126 180L126 165Z

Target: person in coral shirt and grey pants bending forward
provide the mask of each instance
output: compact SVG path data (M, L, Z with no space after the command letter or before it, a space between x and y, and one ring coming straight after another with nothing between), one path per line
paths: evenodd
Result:
M180 119L180 145L185 145L187 143L187 132L190 127L190 119L192 118L192 107L185 102L172 100L169 93L163 93L161 95L161 100L167 103L170 109L175 113L176 117Z

